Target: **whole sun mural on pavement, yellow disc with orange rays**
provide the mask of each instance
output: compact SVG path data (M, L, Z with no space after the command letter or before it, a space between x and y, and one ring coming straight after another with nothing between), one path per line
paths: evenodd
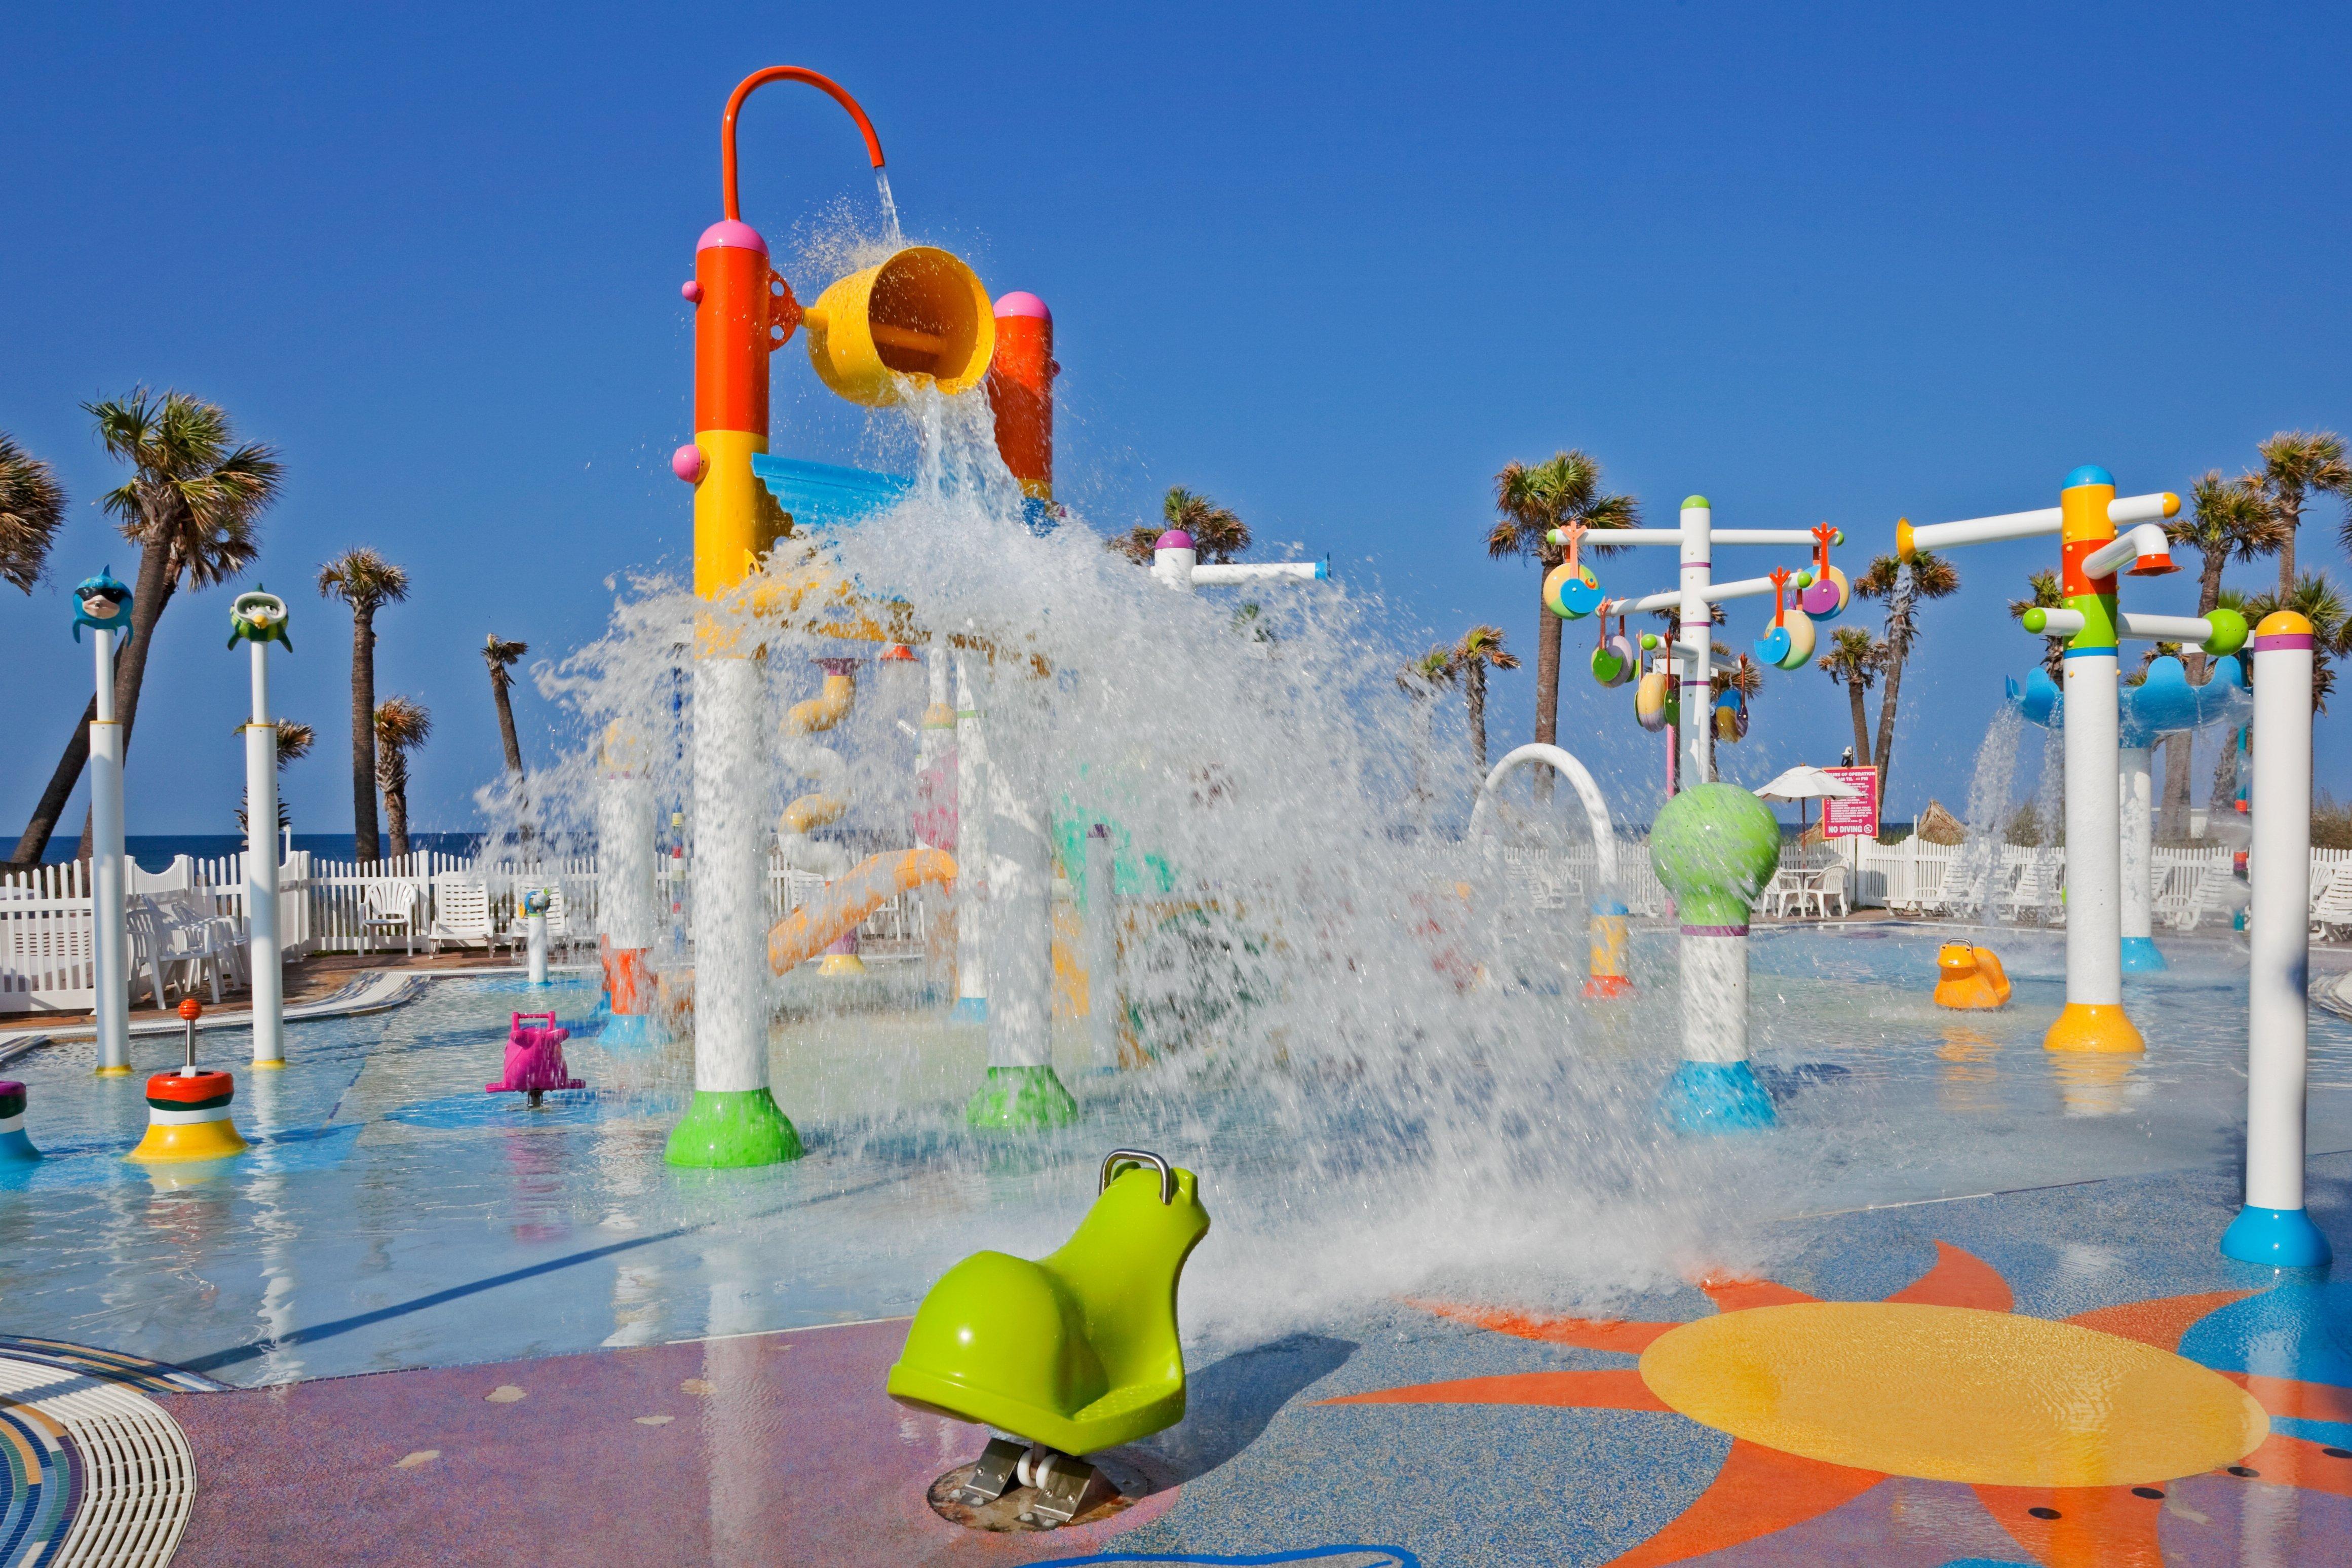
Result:
M2279 1291L2211 1291L2082 1312L2011 1312L1985 1260L1945 1241L1882 1302L1825 1302L1762 1279L1698 1281L1715 1316L1635 1324L1414 1302L1545 1345L1623 1352L1637 1366L1423 1382L1324 1403L1562 1406L1679 1413L1731 1436L1715 1481L1609 1568L1658 1568L1804 1526L1891 1479L1973 1488L2039 1563L2161 1563L2169 1483L2220 1472L2352 1497L2352 1378L2324 1333L2263 1375L2227 1345L2263 1328ZM2230 1314L2237 1335L2216 1333ZM2277 1309L2267 1314L2277 1316ZM2199 1331L2204 1359L2180 1352ZM2213 1354L2220 1352L2220 1354ZM2319 1356L2317 1361L2312 1356ZM2310 1373L2326 1373L2326 1382ZM1889 1488L1891 1490L1891 1488ZM1898 1507L1889 1500L1889 1507Z

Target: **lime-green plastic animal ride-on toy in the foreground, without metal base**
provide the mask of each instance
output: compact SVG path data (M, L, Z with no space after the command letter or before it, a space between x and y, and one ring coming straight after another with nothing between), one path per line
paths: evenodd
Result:
M1101 1453L1183 1420L1176 1279L1209 1234L1200 1180L1115 1150L1061 1251L974 1253L915 1309L887 1392L903 1406Z

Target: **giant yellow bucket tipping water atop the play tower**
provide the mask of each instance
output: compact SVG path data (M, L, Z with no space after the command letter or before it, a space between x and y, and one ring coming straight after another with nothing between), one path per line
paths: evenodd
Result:
M997 317L978 275L929 244L842 277L802 313L809 364L849 402L887 407L908 383L971 390L997 350Z

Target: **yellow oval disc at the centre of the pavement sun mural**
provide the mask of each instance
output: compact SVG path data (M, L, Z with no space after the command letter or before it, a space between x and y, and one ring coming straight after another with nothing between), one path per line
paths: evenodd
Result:
M1696 1422L1809 1460L1976 1486L2147 1486L2267 1434L2220 1373L2096 1328L1907 1302L1698 1319L1642 1352Z

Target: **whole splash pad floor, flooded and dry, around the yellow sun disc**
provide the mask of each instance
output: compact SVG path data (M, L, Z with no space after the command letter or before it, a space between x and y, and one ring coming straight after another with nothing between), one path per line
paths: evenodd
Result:
M296 1540L318 1561L383 1561L393 1542L437 1561L760 1561L750 1542L790 1537L804 1561L840 1563L1844 1552L1933 1568L2136 1561L2150 1530L2180 1561L2340 1552L2352 1460L2326 1450L2352 1450L2352 1300L2211 1251L2232 1206L2230 1041L2244 1027L2225 945L2187 947L2147 983L2145 1063L2084 1077L2037 1044L2058 1006L2056 943L2011 936L2018 1001L1959 1018L1893 985L1933 971L1938 936L1757 943L1757 1058L1783 1131L1731 1154L1658 1133L1672 1159L1715 1161L1717 1190L1740 1197L1717 1197L1719 1225L1689 1229L1689 1192L1649 1192L1677 1232L1649 1253L1599 1211L1555 1232L1496 1218L1477 1246L1425 1234L1418 1260L1399 1255L1414 1246L1397 1227L1324 1213L1310 1227L1322 1248L1301 1253L1301 1232L1263 1199L1298 1190L1298 1157L1251 1093L1171 1095L1155 1077L1169 1067L1096 1072L1073 1030L1056 1053L1087 1119L1065 1135L981 1138L953 1117L981 1032L889 987L866 987L858 1011L802 1011L790 1048L779 1034L779 1095L811 1157L731 1175L661 1164L684 1095L680 1060L659 1051L581 1039L572 1060L595 1088L536 1114L466 1093L494 1070L496 1020L541 1006L501 980L437 980L393 1013L296 1025L289 1067L240 1103L254 1152L216 1173L125 1166L136 1095L52 1051L21 1067L49 1159L14 1180L9 1204L75 1241L16 1251L24 1262L0 1274L7 1328L256 1389L162 1396L200 1476L183 1561L282 1561ZM1668 1065L1649 1063L1644 1034L1672 997L1670 952L1637 936L1649 999L1583 1046L1595 1072ZM595 1001L576 983L536 994L567 1023ZM2352 1150L2347 1086L2352 1030L2321 1023L2314 1150ZM1148 1495L1115 1521L957 1530L922 1493L983 1434L882 1399L903 1333L889 1319L976 1246L1054 1246L1082 1208L1073 1171L1127 1138L1183 1147L1218 1213L1185 1281L1190 1418L1124 1455ZM1390 1182L1414 1218L1461 1197L1399 1171L1327 1180L1341 1194ZM2319 1157L2314 1175L2314 1213L2343 1237L2352 1157ZM1712 1260L1672 1251L1693 1237L1712 1239ZM1289 1305L1270 1288L1287 1248ZM1710 1262L1719 1276L1691 1284ZM1738 1274L1776 1284L1726 1286ZM2241 1465L2256 1476L2199 1469L2154 1483L2161 1497L2105 1476L2042 1476L2037 1490L2032 1476L1905 1474L1924 1465L1884 1443L1879 1469L1863 1448L1788 1458L1644 1382L1637 1356L1661 1326L1804 1298L2082 1319L2178 1347L2246 1389L2263 1443L2284 1446L2267 1469ZM1776 1354L1804 1361L1809 1331L1790 1333ZM1994 1366L2004 1333L1978 1335ZM2067 1396L2037 1382L2034 1356L2011 1359L2013 1396L1978 1415L1985 1443L2020 1422L2034 1439L2032 1413ZM1931 1382L1933 1359L1919 1366ZM1823 1394L1865 1432L1879 1396ZM1395 1462L1336 1458L1362 1453ZM350 1528L322 1533L322 1516ZM2281 1559L2279 1542L2298 1544Z

